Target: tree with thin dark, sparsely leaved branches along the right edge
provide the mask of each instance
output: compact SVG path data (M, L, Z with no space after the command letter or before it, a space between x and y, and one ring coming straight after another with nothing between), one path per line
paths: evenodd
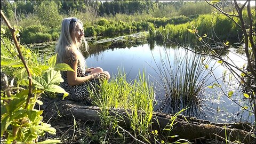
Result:
M234 1L234 3L231 3L234 9L231 11L231 13L228 13L221 8L220 2L217 2L217 3L211 3L208 1L206 2L209 5L213 6L215 10L218 10L223 15L231 19L240 28L240 30L242 30L243 42L245 43L244 52L247 58L247 68L245 70L242 70L238 67L233 67L233 65L227 62L225 62L225 65L229 67L229 69L233 71L233 75L240 80L240 84L243 86L244 91L246 92L244 94L244 97L250 100L251 109L254 111L254 117L256 119L256 114L255 114L255 103L256 103L255 102L255 93L256 93L255 91L255 82L256 82L255 9L254 9L254 15L252 15L252 11L251 11L252 7L250 4L250 1L246 1L243 5L239 5L237 1ZM239 22L236 21L237 18L239 19ZM237 72L235 72L235 69L242 72L242 74L239 75ZM247 79L247 82L245 82L245 79Z

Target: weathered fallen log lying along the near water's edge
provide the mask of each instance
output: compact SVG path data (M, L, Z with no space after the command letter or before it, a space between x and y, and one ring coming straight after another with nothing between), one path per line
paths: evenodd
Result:
M100 121L101 109L96 106L85 106L83 103L77 103L70 100L48 100L47 105L43 105L44 113L47 113L48 119L57 117L57 114L73 119L81 119L82 121ZM48 107L48 108L46 108ZM130 119L128 114L131 110L123 108L109 108L109 115L122 119L118 125L130 127ZM58 112L58 113L57 113ZM138 115L142 111L138 111ZM154 113L151 119L152 130L163 131L167 124L170 124L172 115L164 113ZM185 119L186 118L186 119ZM196 119L194 117L178 116L174 119L175 125L169 131L171 135L179 135L179 138L195 140L197 138L215 139L223 141L227 137L229 141L239 140L244 143L254 143L255 138L252 137L252 128L249 123L211 123L206 120ZM170 127L167 127L170 129Z

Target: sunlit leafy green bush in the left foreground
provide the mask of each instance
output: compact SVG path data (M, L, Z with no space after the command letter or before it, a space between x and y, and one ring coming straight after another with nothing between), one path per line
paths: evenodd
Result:
M35 143L38 137L43 136L45 132L55 134L56 130L42 121L43 111L34 109L34 106L36 103L43 105L39 97L45 92L64 93L67 96L68 93L58 86L60 82L63 82L60 71L72 69L66 64L55 64L57 55L42 62L38 59L38 53L33 53L21 45L22 55L27 61L33 80L34 97L29 99L25 66L17 58L17 50L10 40L2 34L1 40L3 41L1 42L1 68L3 68L1 75L6 72L11 73L15 79L15 83L8 85L8 89L3 91L1 89L1 138L5 138L6 143L14 141ZM56 142L60 140L49 139L42 143Z

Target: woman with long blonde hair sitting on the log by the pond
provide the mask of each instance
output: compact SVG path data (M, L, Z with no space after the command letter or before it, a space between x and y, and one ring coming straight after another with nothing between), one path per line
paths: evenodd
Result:
M99 79L109 79L110 75L100 67L86 69L85 59L79 50L82 39L87 51L83 23L77 18L63 19L55 53L58 53L57 63L67 63L74 70L63 71L64 82L60 86L69 93L69 98L75 101L91 102L88 87L91 90L95 89L94 86L99 84Z

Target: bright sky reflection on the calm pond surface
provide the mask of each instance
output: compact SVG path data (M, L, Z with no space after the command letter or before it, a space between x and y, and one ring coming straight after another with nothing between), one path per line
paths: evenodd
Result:
M171 45L171 44L170 44ZM94 49L91 47L91 49ZM95 47L95 49L98 49ZM101 51L98 53L93 53L89 57L87 57L87 66L89 67L102 67L110 71L110 74L117 74L117 68L121 67L127 73L127 79L137 78L139 71L142 73L144 69L149 77L149 81L154 83L154 89L156 92L156 97L158 103L154 110L161 110L166 113L174 113L175 108L177 109L177 105L171 105L170 100L166 101L165 99L166 93L164 88L162 87L159 76L156 74L156 63L159 63L161 59L160 53L164 53L165 50L168 50L170 53L170 57L173 57L175 51L180 50L178 46L166 47L157 45L157 42L148 41L147 43L143 43L141 45L132 45L131 47L111 47L110 49L106 49L105 51ZM97 50L95 50L97 51ZM232 53L229 50L222 50L220 55L229 55L230 58L233 58ZM234 57L240 63L243 63L243 59L238 59ZM157 60L157 62L154 61ZM209 68L213 69L213 73L215 77L219 77L219 83L222 85L223 89L227 89L225 85L229 85L229 83L222 82L223 80L223 68L220 63L216 61L209 63ZM226 76L226 79L229 79L229 75ZM234 79L233 79L234 80ZM190 109L187 110L185 115L190 115L202 119L207 119L211 122L234 122L234 121L250 121L253 122L253 117L249 116L249 113L246 111L241 112L241 109L230 99L224 97L220 90L212 90L207 85L212 85L215 79L213 77L209 78L209 81L205 84L204 93L201 94L200 101L197 103L198 105L190 105ZM231 80L230 80L231 81ZM231 86L231 85L230 85ZM233 85L234 86L234 85ZM239 86L234 86L234 89L239 89ZM242 97L241 94L236 93L236 97L234 100L240 103ZM162 103L164 102L164 103ZM170 103L168 105L168 103ZM179 108L186 107L182 104L179 105ZM172 109L170 111L170 109Z

